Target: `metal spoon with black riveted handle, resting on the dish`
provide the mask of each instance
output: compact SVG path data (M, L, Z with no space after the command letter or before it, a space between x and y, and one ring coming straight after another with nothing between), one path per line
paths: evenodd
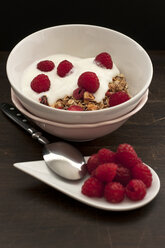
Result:
M77 180L85 176L86 167L82 154L65 142L50 143L41 132L38 132L26 117L13 105L1 104L1 110L24 130L44 145L43 158L47 166L59 176Z

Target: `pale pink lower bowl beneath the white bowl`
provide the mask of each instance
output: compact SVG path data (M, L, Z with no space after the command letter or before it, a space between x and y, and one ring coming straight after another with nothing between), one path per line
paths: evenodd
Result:
M148 91L144 94L139 104L128 114L115 120L93 124L64 124L45 120L28 112L20 103L14 92L12 92L11 98L14 105L44 131L67 140L87 141L112 133L122 126L145 105L148 99Z

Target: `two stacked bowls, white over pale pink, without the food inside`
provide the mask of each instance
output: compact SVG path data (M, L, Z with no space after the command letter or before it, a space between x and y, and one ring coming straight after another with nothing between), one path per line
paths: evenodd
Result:
M53 54L95 57L109 52L126 76L131 99L114 107L93 111L52 108L25 96L21 91L24 70L35 60ZM43 130L73 141L96 139L113 132L147 102L153 68L146 51L117 31L92 25L62 25L35 32L20 41L7 61L7 75L16 107Z

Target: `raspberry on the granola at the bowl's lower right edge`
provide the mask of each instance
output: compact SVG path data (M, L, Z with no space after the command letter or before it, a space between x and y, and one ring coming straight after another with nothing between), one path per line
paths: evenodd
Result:
M113 94L111 94L110 98L109 98L109 106L113 107L116 105L119 105L123 102L126 102L130 99L129 95L124 92L124 91L118 91L115 92Z

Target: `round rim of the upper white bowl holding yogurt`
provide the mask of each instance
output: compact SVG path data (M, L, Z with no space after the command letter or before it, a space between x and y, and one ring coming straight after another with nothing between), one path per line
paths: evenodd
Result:
M15 46L14 48L11 50L11 52L9 53L9 56L7 58L7 62L6 62L6 73L7 73L7 77L9 79L9 82L12 86L12 88L19 94L21 95L23 98L25 98L27 101L31 102L32 104L38 106L38 107L41 107L41 109L45 109L45 110L50 110L53 111L54 113L57 111L59 113L66 113L67 110L64 110L64 109L57 109L57 108L53 108L51 106L46 106L46 105L43 105L43 104L40 104L36 101L34 101L33 99L30 99L28 97L26 97L25 95L22 94L21 90L18 90L15 85L12 83L12 80L11 80L11 77L10 77L10 70L9 70L9 63L10 63L10 58L12 56L12 54L15 52L15 50L17 50L17 48L19 48L19 46L22 45L22 43L26 40L26 39L29 39L30 37L36 35L36 34L39 34L39 33L42 33L42 32L45 32L47 30L51 30L51 29L60 29L60 28L63 28L63 27L90 27L90 28L97 28L97 29L103 29L105 31L111 31L113 33L116 33L118 35L121 35L123 37L125 37L126 39L130 40L131 42L133 42L137 47L139 47L139 50L143 51L143 53L145 54L147 60L148 60L148 63L149 63L149 67L150 67L150 76L149 78L147 79L147 82L145 84L145 86L133 97L131 97L128 101L124 102L124 103L121 103L120 105L117 105L117 106L113 106L111 108L105 108L105 109L100 109L100 110L93 110L92 113L98 113L99 112L109 112L111 110L113 111L117 111L118 109L120 109L121 107L126 107L128 106L129 104L131 104L135 99L138 99L140 96L142 96L146 90L148 89L150 83L151 83L151 80L152 80L152 77L153 77L153 65L152 65L152 61L148 55L148 53L145 51L145 49L139 44L137 43L134 39L130 38L129 36L119 32L119 31L116 31L116 30L113 30L113 29L110 29L110 28L106 28L106 27L103 27L103 26L97 26L97 25L90 25L90 24L64 24L64 25L57 25L57 26L51 26L51 27L48 27L48 28L44 28L44 29L40 29L36 32L33 32L31 33L30 35L26 36L25 38L23 38L22 40L20 40ZM88 116L90 115L91 113L88 112L88 111L76 111L78 112L80 115L85 115L85 116ZM69 113L72 113L72 115L76 115L75 111L69 111ZM68 114L68 112L67 112Z

